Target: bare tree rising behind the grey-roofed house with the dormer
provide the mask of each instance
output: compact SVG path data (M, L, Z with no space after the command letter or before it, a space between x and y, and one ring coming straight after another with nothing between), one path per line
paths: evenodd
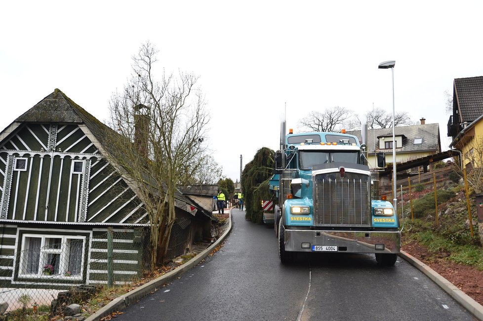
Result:
M370 110L365 113L364 116L367 119L367 127L369 129L390 128L393 126L392 112L387 112L382 108ZM348 123L348 128L350 128L351 130L361 128L361 120L357 116L351 119ZM394 116L394 124L396 127L410 126L414 124L414 121L411 120L407 112L400 112L396 113L396 115Z

